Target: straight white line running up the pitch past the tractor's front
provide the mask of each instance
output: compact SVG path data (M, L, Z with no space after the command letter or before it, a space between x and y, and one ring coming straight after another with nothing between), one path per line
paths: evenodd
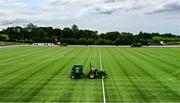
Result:
M101 49L100 48L99 48L99 61L100 61L100 66L101 66L101 70L102 70L102 58L101 58ZM102 92L103 92L103 103L106 103L104 79L102 79Z

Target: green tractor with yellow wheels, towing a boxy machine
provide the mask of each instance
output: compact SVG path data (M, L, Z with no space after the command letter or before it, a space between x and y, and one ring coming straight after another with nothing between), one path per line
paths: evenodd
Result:
M90 71L88 74L89 79L101 78L105 79L107 76L106 72L102 69L95 69L94 66L90 64Z

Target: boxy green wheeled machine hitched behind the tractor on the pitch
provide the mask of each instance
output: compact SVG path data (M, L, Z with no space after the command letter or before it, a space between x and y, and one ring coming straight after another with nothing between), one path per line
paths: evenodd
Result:
M73 65L70 78L76 79L76 78L82 78L83 76L84 76L83 65Z

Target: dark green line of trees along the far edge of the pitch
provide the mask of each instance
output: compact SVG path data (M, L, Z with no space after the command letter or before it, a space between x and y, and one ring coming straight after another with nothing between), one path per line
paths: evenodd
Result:
M166 33L146 33L139 32L132 34L129 32L107 32L100 33L92 30L79 29L77 25L63 29L53 27L38 27L32 23L25 27L8 27L0 31L0 41L14 42L54 42L59 38L62 43L69 45L131 45L142 43L148 45L150 42L177 42L180 36Z

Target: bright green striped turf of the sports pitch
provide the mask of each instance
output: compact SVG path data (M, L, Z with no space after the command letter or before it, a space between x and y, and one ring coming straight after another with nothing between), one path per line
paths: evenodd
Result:
M103 102L101 79L71 80L73 64L100 68L107 102L180 102L180 48L0 49L0 102Z

